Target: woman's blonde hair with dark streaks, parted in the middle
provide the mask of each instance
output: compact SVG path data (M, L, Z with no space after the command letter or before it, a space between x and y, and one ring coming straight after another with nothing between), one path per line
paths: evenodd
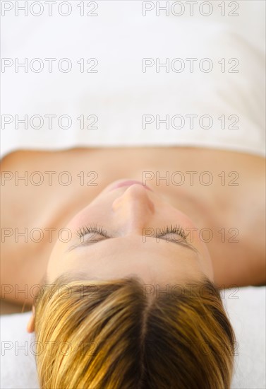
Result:
M169 294L138 277L53 285L35 301L40 388L230 388L235 336L209 279Z

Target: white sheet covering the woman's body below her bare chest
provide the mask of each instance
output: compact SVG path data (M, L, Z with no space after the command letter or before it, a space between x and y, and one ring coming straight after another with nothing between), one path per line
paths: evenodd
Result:
M85 4L87 2L85 1ZM162 4L165 1L161 2ZM170 2L171 3L171 2ZM200 4L202 1L198 1ZM46 66L40 73L14 65L6 68L2 78L2 113L11 115L11 124L2 130L1 156L16 149L64 149L74 146L203 146L265 155L265 69L264 41L265 1L240 1L239 16L221 16L218 1L212 1L213 14L202 16L195 11L176 17L155 11L143 16L142 1L98 1L97 17L80 17L73 2L67 17L47 12L40 17L23 17L21 11L6 12L2 18L2 57L41 59ZM234 3L234 2L233 2ZM184 2L186 4L186 1ZM195 10L199 9L195 6ZM37 9L37 8L36 8ZM177 8L176 8L177 9ZM226 15L234 8L226 8ZM49 73L45 58L55 58ZM62 73L59 60L68 58L72 69ZM80 73L80 58L96 58L98 73ZM143 73L143 58L181 58L186 70ZM209 58L214 66L210 73L188 70L186 58ZM222 73L221 59L226 61ZM237 73L228 73L234 60ZM85 64L86 65L86 64ZM205 64L206 65L206 64ZM37 64L35 64L37 66ZM66 66L66 63L64 64ZM87 65L86 65L87 66ZM85 66L86 70L87 67ZM176 64L179 68L179 62ZM56 70L57 69L57 70ZM171 68L170 68L171 69ZM29 128L18 124L28 115ZM40 115L38 119L30 119ZM52 129L45 115L56 115ZM72 124L60 128L59 117L68 115ZM80 129L80 115L85 129ZM88 115L98 118L94 127L86 129ZM181 115L169 129L155 122L143 128L143 115L156 115L163 120ZM186 115L198 115L193 128ZM202 128L199 118L210 115L210 129ZM225 115L222 129L219 117ZM239 122L234 123L236 115ZM91 122L90 122L91 123ZM67 122L61 123L66 126ZM204 126L208 124L205 121Z

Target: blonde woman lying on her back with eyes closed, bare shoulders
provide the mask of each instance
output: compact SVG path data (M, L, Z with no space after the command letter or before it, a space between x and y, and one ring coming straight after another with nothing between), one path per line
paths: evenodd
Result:
M97 186L74 181L81 164ZM2 190L2 225L18 233L3 245L1 281L14 286L8 299L35 304L41 388L228 388L235 339L217 290L265 283L263 158L193 147L16 151L2 169L22 176L32 166L67 171L74 184L18 191L9 180ZM187 175L176 185L182 171L197 172L193 185ZM199 180L207 171L212 185ZM25 228L50 235L25 242Z

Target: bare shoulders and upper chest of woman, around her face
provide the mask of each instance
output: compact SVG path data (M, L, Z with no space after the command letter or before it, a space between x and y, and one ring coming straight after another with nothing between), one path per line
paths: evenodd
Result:
M188 215L200 231L206 229L201 237L210 252L217 286L265 284L264 158L185 147L16 151L4 158L1 170L12 172L13 176L16 171L18 176L25 175L25 171L29 175L39 171L44 177L40 186L30 181L26 186L21 180L16 185L14 179L2 183L1 298L6 301L32 304L32 296L15 293L16 288L21 290L28 285L30 289L40 283L58 231L107 185L121 178L146 183ZM56 172L50 175L52 182L45 171ZM69 172L70 185L62 185L68 180L66 175L59 178L63 171ZM87 177L92 171L96 174ZM175 173L178 171L183 176ZM84 182L80 172L85 173ZM202 172L209 173L202 175ZM167 174L169 180L163 180ZM144 181L145 177L150 180ZM39 180L37 175L32 179ZM207 185L210 179L212 182ZM93 183L97 186L92 186ZM3 228L10 228L4 233L12 235L3 238ZM28 242L18 236L25 228L29 231ZM33 240L30 236L34 228L44 233L39 243L33 241L40 237L37 232ZM49 228L56 229L49 233ZM207 228L213 234L210 241ZM3 289L6 284L11 287Z

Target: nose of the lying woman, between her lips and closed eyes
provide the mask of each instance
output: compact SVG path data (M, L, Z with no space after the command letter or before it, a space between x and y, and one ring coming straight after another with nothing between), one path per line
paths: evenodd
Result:
M116 223L122 223L123 229L128 233L142 233L155 213L155 204L150 199L150 193L143 185L131 185L114 200L112 209Z

